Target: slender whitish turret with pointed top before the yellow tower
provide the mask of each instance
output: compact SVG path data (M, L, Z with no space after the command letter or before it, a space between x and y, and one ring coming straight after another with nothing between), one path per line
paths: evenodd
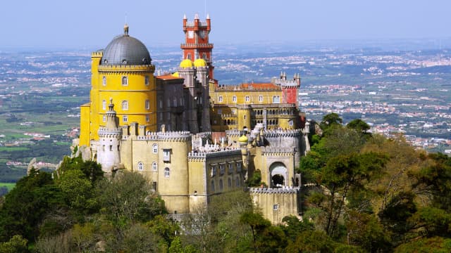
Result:
M97 148L97 162L106 173L111 173L121 164L122 130L119 128L118 121L113 100L110 100L109 110L106 112L106 126L102 126L98 131L99 147Z

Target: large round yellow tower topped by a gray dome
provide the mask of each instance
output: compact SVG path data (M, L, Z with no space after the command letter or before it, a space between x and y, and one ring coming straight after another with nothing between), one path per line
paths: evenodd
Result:
M128 29L125 25L124 33L104 51L92 53L91 101L81 107L80 145L99 140L97 130L106 126L110 98L116 103L120 126L137 122L156 131L155 66L146 46Z

